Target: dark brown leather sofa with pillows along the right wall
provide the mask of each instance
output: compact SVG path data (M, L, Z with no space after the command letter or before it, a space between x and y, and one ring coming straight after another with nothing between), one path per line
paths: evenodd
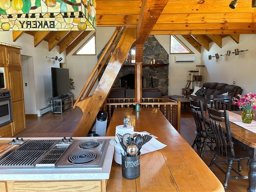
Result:
M209 83L206 82L202 85L202 87L205 88L207 95L221 95L228 92L228 95L233 97L237 97L238 94L242 94L242 88L236 85L228 85L226 83ZM193 96L191 95L192 92L190 92L188 95L186 95L186 98L192 98L193 100L199 101L202 100L203 104L204 102L204 96ZM205 107L204 107L205 109Z

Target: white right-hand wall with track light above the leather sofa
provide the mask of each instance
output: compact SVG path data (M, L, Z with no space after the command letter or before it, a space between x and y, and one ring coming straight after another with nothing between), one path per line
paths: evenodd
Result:
M234 52L236 48L248 51L208 60L208 55L225 54L227 50ZM210 43L210 51L201 48L201 53L202 64L206 66L203 69L204 82L233 84L233 81L236 81L236 85L243 89L242 94L256 93L256 34L241 34L239 44L230 37L223 38L222 48Z

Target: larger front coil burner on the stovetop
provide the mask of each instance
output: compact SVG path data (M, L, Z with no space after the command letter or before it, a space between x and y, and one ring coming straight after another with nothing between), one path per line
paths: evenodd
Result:
M90 163L97 158L97 154L91 151L79 151L68 157L69 162L74 164Z

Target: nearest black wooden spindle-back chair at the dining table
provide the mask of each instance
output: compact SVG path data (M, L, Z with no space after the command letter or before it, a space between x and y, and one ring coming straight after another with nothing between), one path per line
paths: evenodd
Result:
M223 184L224 189L226 190L228 179L248 178L248 176L240 174L240 160L250 160L250 158L248 157L248 151L242 146L234 144L232 140L228 111L224 110L224 112L222 112L208 107L208 114L216 142L216 147L214 147L215 155L212 158L209 168L212 168L212 165L215 164L224 174L226 174ZM226 132L224 131L224 128L226 128ZM216 162L218 156L224 158L225 161ZM232 166L232 163L238 163L238 171ZM225 171L219 164L227 164L227 170ZM230 170L233 170L238 176L230 176Z

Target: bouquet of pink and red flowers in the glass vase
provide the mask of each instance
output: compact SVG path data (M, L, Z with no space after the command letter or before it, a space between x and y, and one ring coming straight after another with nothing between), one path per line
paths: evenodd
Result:
M242 95L237 95L239 98L234 98L233 104L238 105L239 108L244 110L255 110L256 109L256 94L247 93L243 97Z

